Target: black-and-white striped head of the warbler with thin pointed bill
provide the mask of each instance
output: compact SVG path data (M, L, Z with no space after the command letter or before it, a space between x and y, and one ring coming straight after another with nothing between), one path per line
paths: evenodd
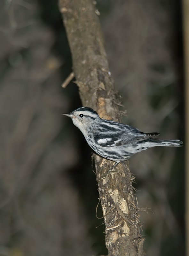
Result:
M70 114L63 114L72 118L73 123L83 132L86 131L86 127L89 127L95 121L100 118L98 113L92 108L77 108L72 111Z

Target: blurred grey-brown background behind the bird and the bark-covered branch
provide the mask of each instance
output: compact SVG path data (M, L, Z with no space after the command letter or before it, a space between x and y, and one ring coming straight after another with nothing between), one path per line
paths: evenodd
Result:
M123 123L184 140L179 0L99 0ZM91 148L61 113L71 54L55 0L0 1L0 256L107 254ZM184 255L184 148L133 156L146 255Z

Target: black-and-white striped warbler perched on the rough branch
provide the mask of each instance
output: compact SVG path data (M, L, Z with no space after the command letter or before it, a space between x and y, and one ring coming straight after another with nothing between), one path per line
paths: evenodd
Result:
M100 156L116 163L108 173L121 161L132 155L156 146L181 147L181 140L152 139L158 132L145 133L127 124L105 120L92 108L77 108L70 114L73 123L83 133L89 146Z

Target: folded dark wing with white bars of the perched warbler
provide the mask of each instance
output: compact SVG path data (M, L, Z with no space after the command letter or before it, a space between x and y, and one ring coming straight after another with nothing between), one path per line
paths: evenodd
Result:
M158 136L158 132L145 133L138 129L124 124L112 122L114 126L109 125L109 129L102 130L100 127L94 132L93 139L95 143L101 147L116 147L133 142L147 140ZM117 125L117 127L116 127Z

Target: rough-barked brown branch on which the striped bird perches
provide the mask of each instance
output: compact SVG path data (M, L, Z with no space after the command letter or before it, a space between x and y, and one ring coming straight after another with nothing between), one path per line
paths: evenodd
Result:
M102 118L120 121L95 5L92 0L59 0L59 8L83 106L94 108ZM115 172L101 179L112 164L95 155L108 255L141 256L144 238L140 236L129 164L119 164Z

